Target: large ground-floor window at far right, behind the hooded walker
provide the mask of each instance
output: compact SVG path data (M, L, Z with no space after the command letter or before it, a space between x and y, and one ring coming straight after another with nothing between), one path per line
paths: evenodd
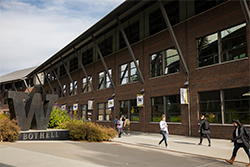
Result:
M211 123L232 123L238 118L243 124L250 124L248 92L249 87L201 92L200 113Z

